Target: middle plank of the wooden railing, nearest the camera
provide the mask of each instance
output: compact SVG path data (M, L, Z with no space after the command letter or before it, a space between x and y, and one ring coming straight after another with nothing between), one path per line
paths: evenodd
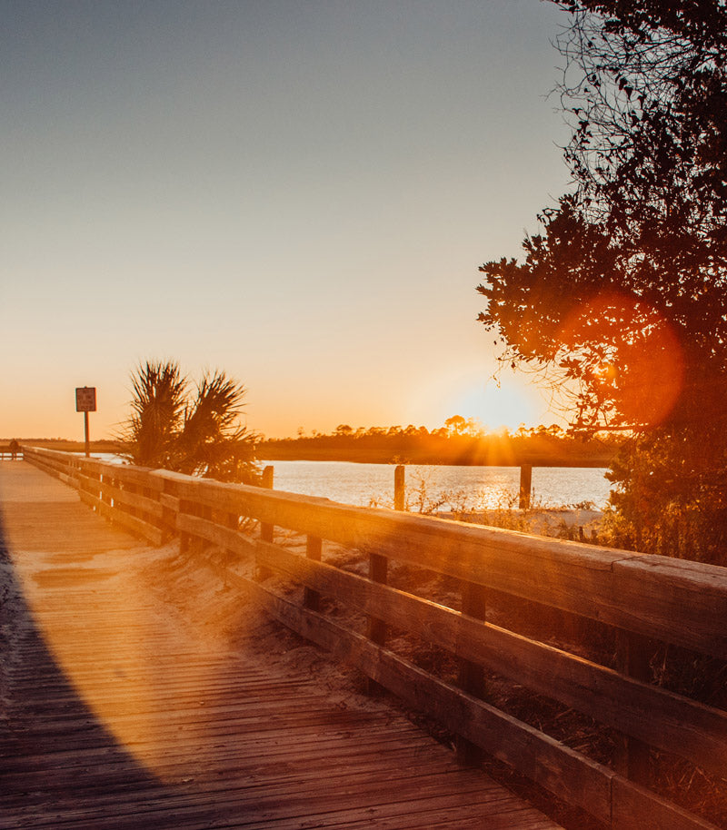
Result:
M456 657L489 667L718 776L727 768L727 713L720 709L284 548L258 543L257 549L266 568L413 631Z

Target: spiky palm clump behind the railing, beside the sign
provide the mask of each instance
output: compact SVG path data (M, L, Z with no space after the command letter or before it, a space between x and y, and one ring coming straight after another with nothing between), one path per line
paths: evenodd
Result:
M224 371L194 388L174 361L146 361L132 375L132 414L124 426L127 458L223 481L254 483L256 436L240 423L244 386Z

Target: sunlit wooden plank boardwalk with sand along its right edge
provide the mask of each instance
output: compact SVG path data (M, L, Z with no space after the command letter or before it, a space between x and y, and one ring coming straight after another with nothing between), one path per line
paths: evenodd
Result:
M24 462L0 498L0 826L557 827L174 545Z

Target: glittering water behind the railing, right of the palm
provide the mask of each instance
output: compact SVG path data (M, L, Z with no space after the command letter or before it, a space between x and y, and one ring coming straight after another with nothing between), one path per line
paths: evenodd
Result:
M274 488L368 507L393 506L393 465L349 461L263 461L272 464ZM593 502L603 509L610 484L605 469L533 468L533 505L563 507ZM444 467L411 464L405 469L411 509L494 509L517 507L519 467Z

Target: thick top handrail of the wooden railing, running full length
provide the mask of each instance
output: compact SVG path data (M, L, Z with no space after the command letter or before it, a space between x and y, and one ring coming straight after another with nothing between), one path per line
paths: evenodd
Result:
M361 508L162 469L28 448L116 479L173 485L178 498L463 578L646 637L727 659L727 568L535 537L450 519ZM75 477L77 474L71 474Z

